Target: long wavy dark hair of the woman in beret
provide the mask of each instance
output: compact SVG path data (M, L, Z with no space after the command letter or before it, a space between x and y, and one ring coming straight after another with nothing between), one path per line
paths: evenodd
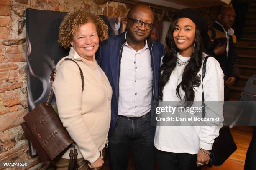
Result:
M173 38L173 32L174 32L174 28L177 21L178 19L172 22L167 32L167 35L165 37L166 44L169 47L169 51L166 52L166 54L164 55L163 64L161 65L162 73L159 80L159 92L158 92L158 96L160 100L163 100L164 86L167 84L167 82L169 82L170 75L172 74L172 71L174 70L177 64L178 49L174 43L174 38ZM176 88L176 95L179 97L179 100L182 101L183 103L182 105L184 107L190 107L193 104L193 102L189 102L189 101L193 101L195 97L195 92L193 89L192 82L195 80L195 77L202 66L202 56L203 56L202 52L203 52L203 41L200 35L200 31L196 27L195 47L190 56L189 62L184 68L184 71L182 74L182 80ZM179 92L180 87L185 92L185 96L183 99Z

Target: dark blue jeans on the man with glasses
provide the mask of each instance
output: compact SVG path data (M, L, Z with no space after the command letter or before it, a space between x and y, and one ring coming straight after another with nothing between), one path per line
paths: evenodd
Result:
M108 140L111 170L127 170L131 148L136 170L155 170L154 126L151 126L150 112L131 120L118 116L113 133Z

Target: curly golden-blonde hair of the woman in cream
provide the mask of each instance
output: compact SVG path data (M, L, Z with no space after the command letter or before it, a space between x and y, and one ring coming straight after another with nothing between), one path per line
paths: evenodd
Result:
M108 39L108 26L105 22L97 15L88 13L86 9L82 8L73 10L64 17L59 29L59 44L65 48L69 47L74 33L79 30L81 25L90 22L96 25L100 41Z

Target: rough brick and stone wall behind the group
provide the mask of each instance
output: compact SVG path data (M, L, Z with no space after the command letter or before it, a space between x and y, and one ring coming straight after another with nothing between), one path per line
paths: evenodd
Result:
M98 15L127 15L130 5L106 0L0 0L0 162L28 162L23 169L46 169L28 154L20 126L27 113L26 8L69 12L87 6ZM154 10L156 20L170 21L173 13ZM4 169L0 165L0 169Z

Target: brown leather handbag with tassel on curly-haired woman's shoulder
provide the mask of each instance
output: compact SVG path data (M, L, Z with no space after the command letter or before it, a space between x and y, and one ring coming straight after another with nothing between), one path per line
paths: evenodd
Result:
M69 58L65 60L75 62ZM77 62L75 63L77 64ZM84 76L80 67L79 70L82 79L82 90L84 90ZM52 88L47 102L40 103L25 115L23 117L25 122L21 124L27 138L31 140L38 156L47 167L50 164L54 164L70 148L70 145L74 143L66 128L63 127L58 114L49 104L51 93ZM76 165L76 154L75 148L69 154L72 168Z

